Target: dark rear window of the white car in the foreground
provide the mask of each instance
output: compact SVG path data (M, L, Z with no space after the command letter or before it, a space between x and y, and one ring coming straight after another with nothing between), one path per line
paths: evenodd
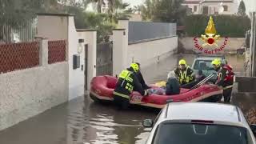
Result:
M249 144L246 128L206 124L170 124L158 126L153 144Z

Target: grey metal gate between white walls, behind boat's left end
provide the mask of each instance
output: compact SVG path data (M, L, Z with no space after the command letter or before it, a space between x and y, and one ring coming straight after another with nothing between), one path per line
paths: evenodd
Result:
M97 75L113 74L113 42L97 45Z

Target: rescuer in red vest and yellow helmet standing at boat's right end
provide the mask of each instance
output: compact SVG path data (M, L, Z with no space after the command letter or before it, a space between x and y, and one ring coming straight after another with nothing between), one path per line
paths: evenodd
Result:
M234 72L232 67L227 64L222 64L221 59L216 58L211 62L214 66L214 70L218 72L218 79L216 84L222 86L223 88L223 97L225 103L230 103L232 86L234 82ZM222 98L220 98L221 100Z

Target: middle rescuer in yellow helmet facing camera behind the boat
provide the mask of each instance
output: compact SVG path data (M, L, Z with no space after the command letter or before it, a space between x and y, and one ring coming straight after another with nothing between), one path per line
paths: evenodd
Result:
M186 61L184 59L181 59L178 62L178 68L176 68L174 72L178 76L178 82L181 84L181 86L194 80L192 76L193 70L190 68L190 66L186 65Z

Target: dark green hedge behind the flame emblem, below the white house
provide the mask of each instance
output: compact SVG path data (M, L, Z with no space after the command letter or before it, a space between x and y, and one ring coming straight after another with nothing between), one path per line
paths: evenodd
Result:
M250 18L237 15L214 15L215 28L222 37L244 38L250 30ZM195 37L205 34L210 16L188 15L185 18L185 32L187 36Z

